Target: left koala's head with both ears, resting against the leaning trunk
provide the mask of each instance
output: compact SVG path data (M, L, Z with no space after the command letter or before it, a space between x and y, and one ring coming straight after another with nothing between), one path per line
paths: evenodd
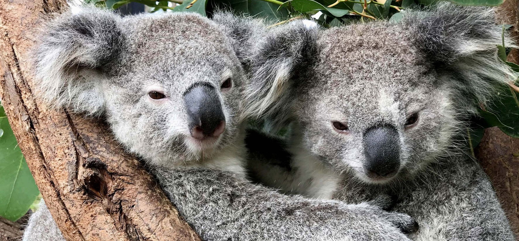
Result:
M116 138L159 165L208 158L237 138L247 51L260 22L218 13L116 14L84 8L44 29L38 92L106 118Z

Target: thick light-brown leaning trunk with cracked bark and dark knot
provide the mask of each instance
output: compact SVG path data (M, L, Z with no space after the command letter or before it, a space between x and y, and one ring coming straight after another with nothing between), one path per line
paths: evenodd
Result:
M33 29L65 6L0 0L0 97L52 216L70 241L200 240L105 125L34 99L26 61Z

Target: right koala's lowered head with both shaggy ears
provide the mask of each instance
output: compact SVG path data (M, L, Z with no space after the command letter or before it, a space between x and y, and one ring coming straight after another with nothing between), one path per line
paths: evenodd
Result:
M296 120L303 145L339 172L368 183L413 177L513 80L497 56L501 31L491 9L449 4L400 23L286 25L255 57L254 110Z

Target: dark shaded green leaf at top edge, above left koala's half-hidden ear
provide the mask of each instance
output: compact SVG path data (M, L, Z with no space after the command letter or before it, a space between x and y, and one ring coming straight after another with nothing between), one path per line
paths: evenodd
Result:
M247 14L279 22L289 17L287 9L278 9L279 5L258 0L223 0L217 1L218 8L230 8L237 14Z

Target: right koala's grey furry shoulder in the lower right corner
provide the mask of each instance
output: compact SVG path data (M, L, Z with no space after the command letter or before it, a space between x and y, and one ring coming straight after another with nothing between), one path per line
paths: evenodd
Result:
M480 165L472 159L449 160L448 165L422 178L420 190L397 208L420 223L414 240L515 240Z

